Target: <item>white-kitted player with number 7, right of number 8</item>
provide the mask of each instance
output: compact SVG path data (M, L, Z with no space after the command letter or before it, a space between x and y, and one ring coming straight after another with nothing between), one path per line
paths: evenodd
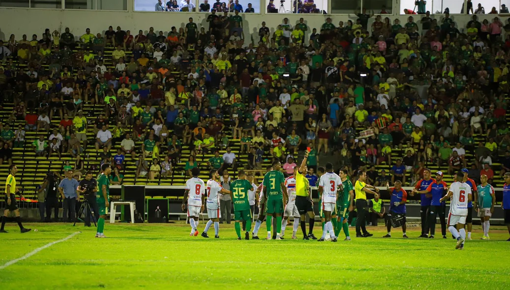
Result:
M218 182L220 179L220 175L218 171L213 169L209 173L209 179L207 181L207 215L209 216L209 221L207 222L206 228L203 229L202 237L208 238L209 235L207 232L209 228L214 223L214 237L219 238L219 230L220 230L220 195L227 194L230 195L231 191L226 190L221 187L221 184Z

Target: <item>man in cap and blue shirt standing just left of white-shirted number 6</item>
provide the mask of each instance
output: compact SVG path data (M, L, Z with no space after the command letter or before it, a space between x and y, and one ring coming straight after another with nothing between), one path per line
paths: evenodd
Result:
M433 180L433 179L432 179ZM425 180L421 180L424 184L428 183ZM420 184L420 188L422 184ZM448 184L443 181L443 172L438 171L436 173L436 181L430 183L427 189L419 190L418 193L421 197L425 197L426 194L432 195L430 200L430 218L428 219L428 227L430 229L429 238L434 238L436 233L436 216L439 214L439 221L441 222L441 234L443 238L446 238L446 202L440 202L439 200L447 194L446 188Z

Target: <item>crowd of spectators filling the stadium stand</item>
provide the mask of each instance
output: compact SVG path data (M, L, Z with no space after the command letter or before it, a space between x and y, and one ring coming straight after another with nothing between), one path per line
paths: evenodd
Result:
M9 148L28 147L24 132L37 131L37 156L78 156L95 147L104 150L101 162L120 171L124 158L137 159L136 176L149 179L174 174L183 146L191 149L188 175L206 166L196 161L203 154L214 155L207 166L220 170L262 173L264 160L278 159L291 172L307 147L311 168L325 155L351 173L385 164L385 176L404 185L430 164L449 173L464 166L492 171L497 160L499 174L508 171L510 36L501 36L508 26L473 15L458 27L448 13L432 19L426 12L419 24L410 16L402 25L366 11L358 17L327 18L318 28L285 18L273 33L262 22L255 43L244 39L238 11L214 10L208 27L189 18L166 36L153 28L133 36L120 27L80 37L46 29L31 41L12 35L0 42L12 55L0 67L2 97L15 104L0 125L0 161L11 159ZM106 44L115 47L111 64ZM84 113L90 104L103 106L98 117ZM9 127L14 120L25 126ZM87 138L90 128L95 140ZM233 139L240 139L239 151L232 152ZM108 156L116 144L117 158Z

